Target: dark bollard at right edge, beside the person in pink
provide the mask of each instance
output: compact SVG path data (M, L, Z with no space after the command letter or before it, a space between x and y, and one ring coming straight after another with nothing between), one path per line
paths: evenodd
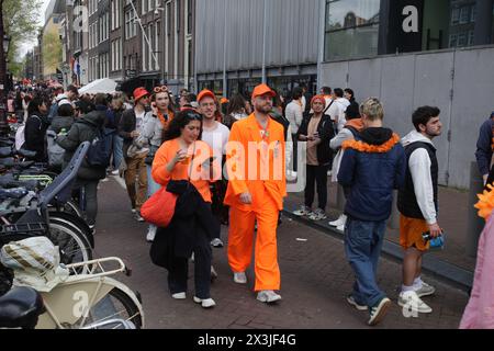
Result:
M467 254L472 258L476 258L479 238L485 225L485 220L479 217L478 210L473 207L479 202L476 195L483 191L484 181L476 162L472 162L470 165L469 226L467 231Z

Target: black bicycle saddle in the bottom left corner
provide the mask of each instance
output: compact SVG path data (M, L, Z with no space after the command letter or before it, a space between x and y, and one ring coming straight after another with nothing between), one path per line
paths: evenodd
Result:
M13 287L0 297L0 328L34 329L45 312L41 294L32 287Z

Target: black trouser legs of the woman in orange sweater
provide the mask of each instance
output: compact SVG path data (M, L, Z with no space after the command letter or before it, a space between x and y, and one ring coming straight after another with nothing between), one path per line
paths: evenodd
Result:
M194 284L195 297L206 299L211 297L211 246L205 236L198 238L194 252ZM168 270L168 287L170 293L186 293L189 276L189 259L175 257Z

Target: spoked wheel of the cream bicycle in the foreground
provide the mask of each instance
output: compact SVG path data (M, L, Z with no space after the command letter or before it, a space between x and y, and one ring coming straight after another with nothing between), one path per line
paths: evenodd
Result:
M86 318L85 325L80 326L80 321L78 321L75 326L89 329L121 329L122 326L119 328L119 325L105 325L101 328L91 327L91 325L109 321L111 319L131 321L136 329L143 327L143 318L138 306L131 296L119 287L113 287L105 297L92 306L89 310L88 318Z

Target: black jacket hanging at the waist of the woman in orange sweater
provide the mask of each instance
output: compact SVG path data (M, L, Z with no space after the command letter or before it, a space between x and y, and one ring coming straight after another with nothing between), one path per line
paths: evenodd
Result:
M218 237L220 224L213 216L211 205L188 181L170 181L167 191L179 197L170 225L158 228L150 257L155 264L168 269L172 258L191 257L198 242L205 242L209 248L209 242Z

